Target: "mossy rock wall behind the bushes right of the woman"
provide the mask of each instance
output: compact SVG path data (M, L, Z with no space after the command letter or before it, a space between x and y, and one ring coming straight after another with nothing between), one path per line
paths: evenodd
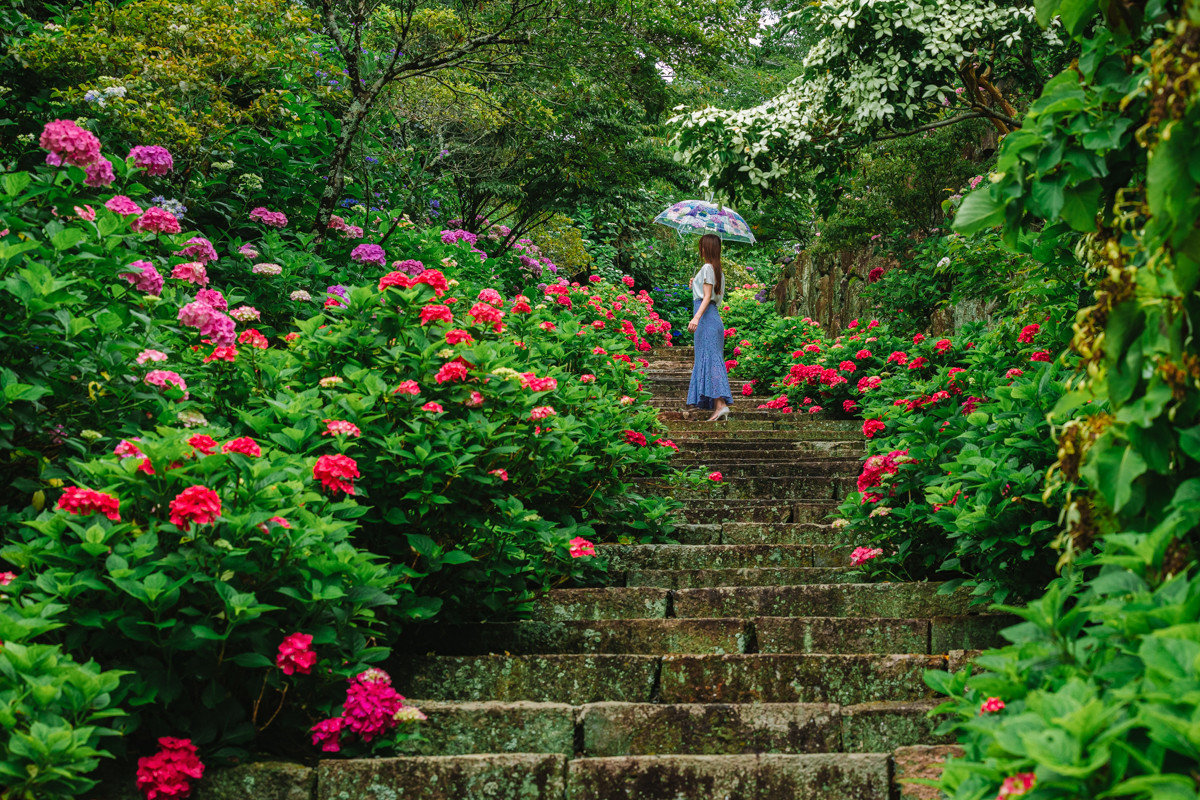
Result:
M785 255L779 264L782 273L773 290L775 309L785 317L810 317L827 330L841 330L852 319L878 317L880 311L866 297L866 276L877 266L898 266L889 257L877 255L872 247L857 247L836 253L812 254L803 251ZM991 323L998 301L967 300L941 308L930 320L930 333L950 333L971 321Z

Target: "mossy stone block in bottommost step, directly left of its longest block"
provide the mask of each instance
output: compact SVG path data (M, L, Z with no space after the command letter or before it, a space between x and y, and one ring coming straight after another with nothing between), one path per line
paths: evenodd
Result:
M560 800L565 762L529 753L325 760L317 800Z

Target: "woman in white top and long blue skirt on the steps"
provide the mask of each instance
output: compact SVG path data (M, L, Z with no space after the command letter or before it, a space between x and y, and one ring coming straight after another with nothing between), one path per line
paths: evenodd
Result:
M721 272L721 237L704 234L700 237L700 260L704 263L691 279L691 307L695 314L688 330L696 335L696 361L688 386L688 405L714 409L709 422L728 416L730 373L725 369L725 323L716 305L725 295Z

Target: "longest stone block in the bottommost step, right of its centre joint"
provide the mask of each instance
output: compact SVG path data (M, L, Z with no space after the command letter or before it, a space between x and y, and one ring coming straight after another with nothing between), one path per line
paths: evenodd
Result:
M887 800L890 756L581 758L568 763L566 783L571 800Z

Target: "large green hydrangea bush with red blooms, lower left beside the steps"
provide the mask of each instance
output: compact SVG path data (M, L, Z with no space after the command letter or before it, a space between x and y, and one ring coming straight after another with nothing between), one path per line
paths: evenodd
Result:
M205 455L190 443L198 433L143 432L132 443L143 455L79 462L74 481L115 497L120 519L47 510L0 558L22 576L22 602L71 608L55 640L127 670L119 697L131 729L236 750L270 729L295 747L341 681L388 655L368 638L380 632L376 609L396 602L397 576L352 543L364 509L326 500L312 459L274 447ZM210 524L175 516L197 486L220 498ZM311 676L275 667L293 631L313 636L322 666Z

